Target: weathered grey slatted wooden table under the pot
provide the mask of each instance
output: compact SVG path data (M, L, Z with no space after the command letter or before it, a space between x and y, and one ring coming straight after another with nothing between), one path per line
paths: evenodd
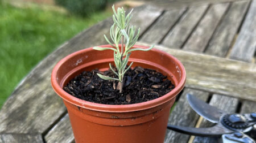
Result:
M175 55L187 71L169 123L212 125L188 105L191 93L226 112L256 111L256 0L174 1L135 8L134 25L141 44ZM180 4L181 3L181 4ZM106 44L112 19L106 19L65 42L24 78L0 111L0 142L73 142L67 110L50 83L53 66L66 55ZM180 114L177 114L180 113ZM167 131L165 142L216 142Z

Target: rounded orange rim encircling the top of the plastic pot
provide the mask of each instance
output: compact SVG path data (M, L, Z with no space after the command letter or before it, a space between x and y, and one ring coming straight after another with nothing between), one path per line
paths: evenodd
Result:
M109 47L111 45L101 45L100 47ZM140 45L134 45L133 47L140 47L140 48L147 48L147 46L140 46ZM135 104L130 104L130 105L105 105L105 104L100 104L100 103L93 103L93 102L89 102L89 101L84 101L82 99L73 97L71 94L68 94L67 92L65 92L60 85L57 83L56 77L57 77L57 71L59 70L59 68L61 67L61 65L63 63L65 63L68 59L75 57L77 54L80 53L85 53L86 51L90 51L92 50L93 47L89 47L86 49L82 49L79 51L76 51L75 53L69 54L67 55L67 57L64 57L63 59L61 59L56 66L53 68L52 70L52 75L51 75L51 84L52 84L52 88L53 90L55 90L55 92L61 97L63 98L65 101L72 103L73 105L82 107L84 109L89 109L89 110L94 110L94 111L102 111L102 112L133 112L133 111L141 111L141 110L146 110L146 109L150 109L152 107L156 107L159 106L167 101L170 101L172 98L175 98L175 96L183 89L184 85L185 85L185 80L186 80L186 73L185 73L185 68L183 66L183 64L174 56L158 50L158 49L151 49L152 51L156 51L158 53L161 53L163 55L166 55L168 57L170 57L171 59L173 59L177 65L180 66L180 71L181 72L181 80L180 82L175 86L174 89L171 90L171 92L165 94L162 97L153 99L151 101L147 101L147 102L141 102L141 103L135 103Z

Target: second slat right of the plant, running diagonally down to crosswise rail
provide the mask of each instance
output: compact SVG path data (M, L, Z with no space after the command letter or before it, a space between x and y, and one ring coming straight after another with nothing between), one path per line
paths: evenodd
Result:
M179 23L164 38L162 45L174 49L180 49L193 28L199 22L208 6L189 7Z

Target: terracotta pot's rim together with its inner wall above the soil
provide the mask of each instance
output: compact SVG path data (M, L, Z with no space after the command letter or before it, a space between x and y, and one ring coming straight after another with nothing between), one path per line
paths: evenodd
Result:
M110 45L102 45L101 47L110 47ZM136 47L147 48L144 46L134 46L134 48ZM168 79L172 81L172 84L175 85L175 88L162 97L131 105L102 106L98 103L87 102L75 98L62 89L64 85L81 72L92 71L96 68L100 71L108 70L109 63L114 64L113 61L112 50L98 51L93 50L93 47L90 47L88 49L77 51L60 60L60 62L53 68L51 79L52 87L61 98L73 105L104 112L130 112L150 109L175 98L184 87L185 68L179 60L163 51L152 49L150 51L133 51L130 55L128 64L134 62L132 68L136 66L150 68L167 76Z

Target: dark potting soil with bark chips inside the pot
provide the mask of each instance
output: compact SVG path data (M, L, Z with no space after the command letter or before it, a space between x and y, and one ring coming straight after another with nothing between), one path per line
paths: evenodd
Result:
M112 66L114 67L114 66ZM127 105L156 99L167 94L174 85L160 72L142 67L129 69L123 77L123 91L118 81L103 80L96 73L117 78L111 71L84 71L69 81L64 90L77 98L108 105Z

